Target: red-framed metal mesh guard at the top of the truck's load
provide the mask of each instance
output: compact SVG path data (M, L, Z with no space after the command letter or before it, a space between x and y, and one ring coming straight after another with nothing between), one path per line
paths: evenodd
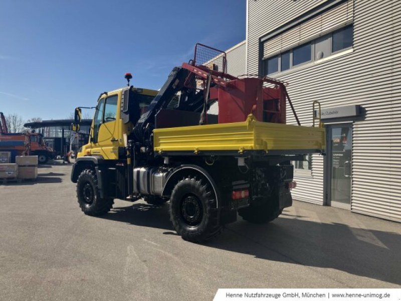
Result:
M226 72L226 53L197 43L193 63L195 66L203 65L215 71Z

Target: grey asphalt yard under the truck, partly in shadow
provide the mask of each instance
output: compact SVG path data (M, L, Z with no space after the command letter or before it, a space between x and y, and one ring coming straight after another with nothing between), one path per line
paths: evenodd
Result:
M168 203L115 201L84 215L71 165L0 186L1 300L212 300L232 287L401 287L401 225L294 202L274 222L241 218L186 242Z

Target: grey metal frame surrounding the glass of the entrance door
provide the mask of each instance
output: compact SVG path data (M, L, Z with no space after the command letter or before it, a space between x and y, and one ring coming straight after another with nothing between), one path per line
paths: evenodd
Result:
M351 128L351 135L352 135L352 144L353 144L353 122L346 121L346 122L332 122L332 123L325 123L326 127L326 156L323 159L324 165L324 172L323 172L323 192L324 192L324 205L331 206L335 208L341 208L346 210L351 210L351 202L352 202L352 155L353 155L353 145L351 145L351 192L350 192L350 200L349 204L339 203L339 202L332 202L331 201L331 128L334 126L349 126Z

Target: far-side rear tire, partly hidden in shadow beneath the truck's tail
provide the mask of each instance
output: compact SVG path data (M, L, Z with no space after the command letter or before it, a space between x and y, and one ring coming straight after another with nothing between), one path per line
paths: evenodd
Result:
M276 207L276 208L274 208ZM238 209L238 215L240 215L244 220L254 223L254 224L263 224L268 223L276 218L283 212L283 210L279 210L278 206L273 206L272 204L260 204L260 205L251 205L246 208Z

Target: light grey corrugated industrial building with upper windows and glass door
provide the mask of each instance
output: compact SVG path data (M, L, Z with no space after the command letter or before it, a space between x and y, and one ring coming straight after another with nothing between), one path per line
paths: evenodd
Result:
M288 82L302 125L322 106L327 155L295 163L293 198L401 222L401 1L247 0L246 24L228 72Z

